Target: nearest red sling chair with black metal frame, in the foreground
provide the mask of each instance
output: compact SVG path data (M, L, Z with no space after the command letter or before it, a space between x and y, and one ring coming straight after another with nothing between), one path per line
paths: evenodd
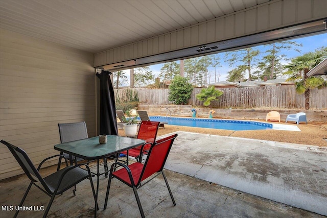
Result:
M164 171L162 169L164 168L164 165L166 163L169 151L172 147L172 144L177 137L177 134L173 136L168 136L165 139L161 139L160 142L152 144L150 147L150 150L148 152L148 157L145 161L145 163L141 162L135 162L132 163L131 165L125 165L120 162L116 162L111 165L110 168L110 175L109 175L109 181L108 181L108 186L107 186L107 193L106 193L106 199L104 202L104 210L107 208L107 203L108 203L108 196L109 196L109 190L110 190L110 184L111 184L111 178L115 177L128 185L129 187L133 188L134 195L136 198L136 202L138 205L139 212L141 212L141 216L144 216L144 212L142 209L141 202L139 201L138 194L137 194L137 189L141 188L143 185L147 184L150 180L154 179L156 176L162 174L162 176L165 179L170 197L173 201L174 206L176 206L173 193L170 190L167 178L164 174ZM114 171L114 168L116 166L120 165L123 168L119 169L118 171ZM141 182L149 178L150 176L156 174L154 177L152 177L150 180L145 182L143 185L141 185Z

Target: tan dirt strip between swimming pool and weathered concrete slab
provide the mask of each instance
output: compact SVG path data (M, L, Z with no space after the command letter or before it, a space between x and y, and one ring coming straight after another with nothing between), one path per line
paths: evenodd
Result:
M265 120L255 120L263 121ZM268 122L275 123L275 122ZM285 124L285 123L281 123ZM296 125L296 124L286 124ZM242 137L262 139L269 141L289 142L306 144L311 146L319 146L327 148L327 124L299 124L297 127L301 130L298 131L284 131L284 130L245 130L245 131L233 131L233 130L219 130L219 129L207 129L198 127L184 127L165 125L165 129L159 127L157 136L169 134L175 131L196 132L212 135ZM124 130L119 130L119 135L124 136Z

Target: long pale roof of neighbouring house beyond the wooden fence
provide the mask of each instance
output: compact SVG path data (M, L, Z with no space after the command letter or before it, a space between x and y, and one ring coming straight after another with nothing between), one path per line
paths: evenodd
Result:
M274 80L267 80L266 82L263 80L260 81L246 81L246 82L228 82L228 81L221 81L218 83L211 83L209 86L235 86L235 87L248 87L248 86L266 86L266 85L278 85L278 84L294 84L295 82L286 82L287 79L274 79Z

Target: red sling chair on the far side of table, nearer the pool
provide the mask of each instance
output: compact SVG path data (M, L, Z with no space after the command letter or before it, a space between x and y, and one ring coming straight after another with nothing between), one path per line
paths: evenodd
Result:
M138 146L136 148L121 153L127 155L127 160L126 160L127 165L128 165L128 156L135 157L138 162L142 161L142 155L147 154L144 151L148 151L151 145L155 141L159 124L160 122L142 121L141 126L139 126L137 138L145 140L146 143L143 146Z

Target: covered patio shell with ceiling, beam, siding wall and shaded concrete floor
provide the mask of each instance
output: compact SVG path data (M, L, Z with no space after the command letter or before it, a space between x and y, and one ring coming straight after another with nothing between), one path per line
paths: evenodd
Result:
M321 0L2 0L0 137L24 149L38 164L59 153L54 150L60 143L58 123L85 121L88 137L100 134L98 70L132 69L326 33L326 7L327 2ZM41 172L53 172L56 163L49 162ZM14 212L3 206L19 203L28 179L4 146L0 147L0 169L1 215L12 216ZM149 217L319 217L166 171L177 205L172 206L162 178L157 177L140 189ZM138 217L132 190L115 180L116 191L102 210L107 181L100 178L99 217ZM78 196L69 191L59 196L49 216L92 216L86 182L78 186ZM31 191L25 204L42 206L48 200L41 192ZM19 215L40 216L38 211Z

